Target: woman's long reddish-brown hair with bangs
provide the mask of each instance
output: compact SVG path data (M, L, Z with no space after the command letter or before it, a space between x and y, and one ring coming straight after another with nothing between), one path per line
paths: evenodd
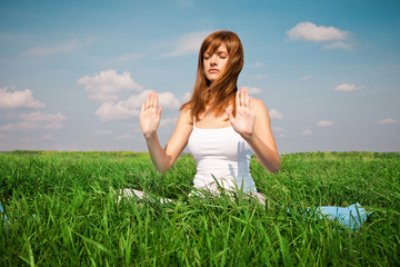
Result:
M219 79L211 83L206 78L203 56L206 52L214 53L222 43L227 47L228 62ZM236 116L234 96L243 63L243 47L234 32L220 30L206 37L199 52L197 78L191 98L181 106L180 110L190 109L191 117L200 120L199 117L206 111L207 106L211 106L211 110L219 117L232 105L232 113Z

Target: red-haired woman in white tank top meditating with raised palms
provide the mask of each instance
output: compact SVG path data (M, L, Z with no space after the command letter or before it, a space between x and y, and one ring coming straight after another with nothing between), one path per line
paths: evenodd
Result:
M217 31L201 44L194 89L180 110L164 148L157 136L161 110L152 91L142 103L140 126L158 171L168 170L186 146L197 160L194 187L217 192L219 186L257 192L249 172L254 154L271 172L280 158L264 103L250 98L237 80L243 67L243 48L231 31ZM218 186L218 184L219 186Z

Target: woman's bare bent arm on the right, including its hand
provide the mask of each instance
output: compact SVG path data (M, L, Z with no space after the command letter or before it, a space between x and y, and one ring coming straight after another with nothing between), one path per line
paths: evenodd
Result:
M233 129L250 145L261 165L269 171L277 172L281 162L266 105L259 99L250 98L248 91L241 88L236 96L236 117L231 110L227 110Z

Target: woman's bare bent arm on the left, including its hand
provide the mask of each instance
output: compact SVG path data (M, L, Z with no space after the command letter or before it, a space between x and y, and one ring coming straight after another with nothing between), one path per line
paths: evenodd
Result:
M161 147L157 135L162 108L158 108L158 93L152 91L140 111L140 127L143 132L149 154L157 170L164 172L174 164L188 144L193 129L188 110L179 115L177 127L164 148Z

